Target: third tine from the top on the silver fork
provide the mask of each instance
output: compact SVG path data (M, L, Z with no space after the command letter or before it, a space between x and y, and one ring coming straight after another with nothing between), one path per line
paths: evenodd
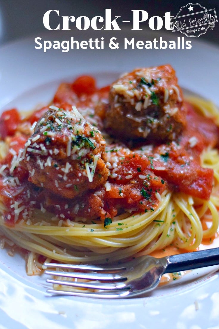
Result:
M58 284L58 285L66 285L71 287L78 287L78 288L86 288L86 289L101 289L101 290L128 290L129 286L125 285L124 283L93 283L93 282L75 282L75 281L64 281L64 280L54 280L54 279L47 279L46 282Z

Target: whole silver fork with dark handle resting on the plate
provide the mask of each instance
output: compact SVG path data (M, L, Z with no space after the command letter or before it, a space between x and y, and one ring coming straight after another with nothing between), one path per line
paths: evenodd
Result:
M174 273L219 264L219 248L188 252L185 254L155 258L141 256L121 266L90 266L45 263L44 267L58 267L71 271L46 270L45 274L89 280L67 281L47 279L49 283L92 289L92 291L65 291L48 289L52 294L118 299L135 297L151 291L159 284L164 273ZM81 272L79 272L81 271Z

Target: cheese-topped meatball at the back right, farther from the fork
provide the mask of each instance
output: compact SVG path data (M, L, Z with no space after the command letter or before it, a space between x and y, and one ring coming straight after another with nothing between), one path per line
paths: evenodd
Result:
M115 81L105 126L122 139L173 140L186 125L182 90L170 65L136 69Z

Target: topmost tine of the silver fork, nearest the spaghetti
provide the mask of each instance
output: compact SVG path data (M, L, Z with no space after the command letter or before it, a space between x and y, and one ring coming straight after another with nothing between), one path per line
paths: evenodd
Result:
M58 264L58 263L44 263L43 267L60 267L67 269L82 269L83 271L104 271L104 272L120 272L124 271L125 267L100 267L95 265L80 265L80 264Z

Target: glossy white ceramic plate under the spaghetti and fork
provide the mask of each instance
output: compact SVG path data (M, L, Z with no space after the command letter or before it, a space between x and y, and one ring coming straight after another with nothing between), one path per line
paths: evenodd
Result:
M72 33L43 36L44 39L68 39ZM60 81L71 81L81 74L92 74L104 86L120 73L135 67L170 63L179 83L192 92L219 104L219 49L192 40L191 49L136 50L123 47L124 37L149 40L156 35L145 31L78 33L75 39L104 36L102 50L34 49L34 37L16 41L0 49L0 109L16 106L29 110L46 104ZM116 36L120 49L107 46ZM160 37L159 35L158 37ZM163 35L176 40L179 35ZM219 73L219 72L218 72ZM216 242L217 243L217 242ZM46 293L45 278L28 277L25 262L0 250L0 329L89 328L89 329L176 329L219 328L219 277L217 267L194 270L183 279L158 288L142 298L126 300L91 300L76 297L51 297Z

